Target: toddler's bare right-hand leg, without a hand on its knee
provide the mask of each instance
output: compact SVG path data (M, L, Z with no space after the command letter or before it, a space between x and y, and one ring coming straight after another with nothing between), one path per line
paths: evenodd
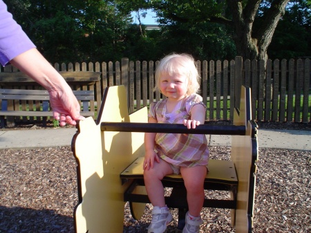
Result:
M200 216L204 203L204 180L207 174L205 166L181 167L180 173L187 189L187 202L189 214Z

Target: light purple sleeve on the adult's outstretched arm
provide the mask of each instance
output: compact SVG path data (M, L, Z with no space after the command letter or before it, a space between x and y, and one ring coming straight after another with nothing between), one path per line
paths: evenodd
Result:
M36 48L0 0L0 63L5 66L17 55Z

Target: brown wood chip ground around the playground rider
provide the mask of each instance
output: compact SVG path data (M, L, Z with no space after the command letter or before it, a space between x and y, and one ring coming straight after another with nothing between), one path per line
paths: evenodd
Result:
M212 158L230 154L229 147L210 150ZM0 232L74 232L77 178L70 147L0 154ZM311 151L261 148L259 158L253 232L311 232ZM202 218L200 232L235 232L228 210L203 209ZM140 221L125 205L124 232L147 232L150 221L151 205ZM176 226L171 222L167 232L181 232Z

